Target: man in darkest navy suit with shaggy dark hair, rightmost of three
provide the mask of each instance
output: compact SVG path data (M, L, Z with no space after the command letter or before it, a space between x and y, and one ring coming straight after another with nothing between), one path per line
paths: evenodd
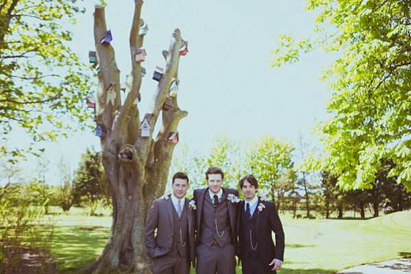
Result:
M275 204L258 198L258 182L253 175L243 177L240 188L245 196L237 208L238 258L242 261L242 273L277 273L284 261L284 231Z

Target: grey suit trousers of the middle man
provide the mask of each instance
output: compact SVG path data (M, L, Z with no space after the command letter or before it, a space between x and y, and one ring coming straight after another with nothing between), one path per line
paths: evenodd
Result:
M197 249L197 274L236 274L236 256L234 245L229 243L224 247L219 245L200 244Z

